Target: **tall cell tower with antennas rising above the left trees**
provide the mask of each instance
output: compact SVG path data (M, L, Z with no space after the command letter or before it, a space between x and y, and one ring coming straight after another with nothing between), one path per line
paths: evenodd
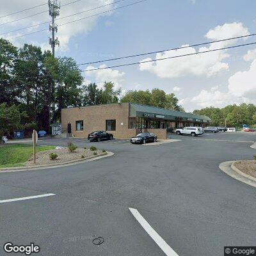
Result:
M52 31L52 37L49 38L49 45L52 47L52 56L55 57L55 45L60 46L58 37L55 39L55 32L58 31L58 26L55 24L54 20L60 15L60 3L57 0L48 0L49 5L49 15L52 17L52 23L49 25L49 30Z

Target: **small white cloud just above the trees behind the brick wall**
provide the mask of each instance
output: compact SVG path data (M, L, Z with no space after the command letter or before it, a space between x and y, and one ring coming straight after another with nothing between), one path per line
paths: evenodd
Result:
M99 68L107 67L105 64L100 65ZM89 66L86 70L94 69L97 67ZM104 81L109 82L112 81L115 83L115 88L120 88L122 86L122 82L124 81L124 72L120 72L119 70L114 70L112 68L106 68L101 70L93 70L84 72L86 76L94 77L95 83L97 83L100 87L104 84Z

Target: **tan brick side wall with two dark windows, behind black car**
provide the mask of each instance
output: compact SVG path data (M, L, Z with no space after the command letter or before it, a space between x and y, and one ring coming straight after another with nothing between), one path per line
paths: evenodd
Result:
M83 120L83 131L76 131L76 121L79 120ZM106 120L116 120L116 131L107 131L114 138L131 138L136 134L136 129L128 129L129 103L61 109L62 128L67 128L70 123L76 137L87 138L90 132L106 131Z

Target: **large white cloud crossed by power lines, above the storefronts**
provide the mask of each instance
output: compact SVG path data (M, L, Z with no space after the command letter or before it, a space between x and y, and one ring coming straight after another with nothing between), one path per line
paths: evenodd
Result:
M223 24L222 26L216 26L216 28L209 30L205 37L210 40L220 40L223 38L247 35L248 33L248 29L245 28L242 23L233 22L230 24ZM163 53L157 53L156 59L172 58L173 56L193 54L196 52L227 47L228 45L234 44L236 41L237 40L218 42L215 44L211 44L209 47L200 47L198 51L196 51L194 47L187 47L185 49L178 49L176 51L166 51ZM172 58L169 60L159 60L148 63L140 63L140 70L147 70L161 78L182 77L186 75L204 75L210 77L218 74L223 70L228 70L228 63L223 61L228 57L229 54L227 54L227 51L207 52L204 54ZM150 60L152 59L147 58L141 61Z

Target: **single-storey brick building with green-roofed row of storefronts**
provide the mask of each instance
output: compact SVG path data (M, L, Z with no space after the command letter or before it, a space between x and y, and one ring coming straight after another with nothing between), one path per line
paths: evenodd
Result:
M114 138L131 138L139 132L154 132L163 139L166 132L173 132L177 127L205 127L210 122L207 116L134 103L61 109L63 131L76 137L87 137L93 131L107 131Z

